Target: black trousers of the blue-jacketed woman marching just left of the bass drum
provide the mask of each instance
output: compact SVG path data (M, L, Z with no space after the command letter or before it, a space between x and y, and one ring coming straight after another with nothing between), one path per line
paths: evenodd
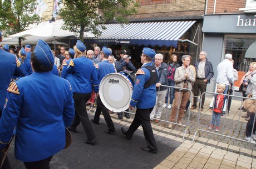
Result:
M89 120L86 103L91 98L91 93L82 94L82 93L73 93L73 99L75 101L75 111L77 112L75 119L73 119L71 127L76 129L77 125L82 123L83 130L88 140L95 139L95 133L92 129L91 122Z

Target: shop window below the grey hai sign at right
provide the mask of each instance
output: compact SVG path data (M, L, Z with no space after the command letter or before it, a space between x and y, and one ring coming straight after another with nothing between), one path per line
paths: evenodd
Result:
M256 62L256 37L251 35L226 35L224 52L233 55L234 68L238 71L249 70L249 64Z

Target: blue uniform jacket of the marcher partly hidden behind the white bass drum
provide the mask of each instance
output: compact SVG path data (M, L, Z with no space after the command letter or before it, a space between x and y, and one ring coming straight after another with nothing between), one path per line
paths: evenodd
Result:
M102 62L95 65L98 74L98 84L101 80L110 73L116 73L115 66L109 62L109 60L102 60Z

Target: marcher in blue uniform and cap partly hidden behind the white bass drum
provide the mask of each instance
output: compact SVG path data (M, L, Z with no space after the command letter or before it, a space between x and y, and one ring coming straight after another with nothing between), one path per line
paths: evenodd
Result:
M102 62L97 63L95 65L96 69L97 69L97 74L98 74L98 84L100 85L101 80L110 73L115 73L115 66L113 64L111 64L109 62L109 60L107 60L107 58L109 58L109 55L111 55L111 52L109 49L107 49L106 47L102 48L100 57L102 59ZM104 104L102 103L100 97L97 98L97 109L95 111L95 116L94 119L92 120L93 123L95 124L99 124L100 121L100 114L103 114L104 119L107 123L107 130L105 131L107 134L111 134L111 132L115 132L115 126L113 124L113 121L109 115L109 110L107 110L107 108L104 106Z

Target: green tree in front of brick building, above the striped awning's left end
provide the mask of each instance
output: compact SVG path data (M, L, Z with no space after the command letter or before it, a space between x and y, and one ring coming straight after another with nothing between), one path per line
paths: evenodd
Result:
M64 21L63 29L80 33L80 40L88 31L99 36L99 25L106 29L106 22L128 23L127 17L136 13L138 5L134 0L61 0L59 4L63 4L58 13Z

